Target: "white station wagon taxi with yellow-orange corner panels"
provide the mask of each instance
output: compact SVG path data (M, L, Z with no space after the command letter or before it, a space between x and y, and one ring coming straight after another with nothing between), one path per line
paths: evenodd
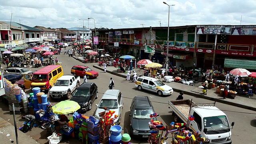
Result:
M171 95L173 93L172 87L164 84L161 80L156 78L141 76L136 80L135 86L139 90L148 90L151 92L156 92L159 96Z

